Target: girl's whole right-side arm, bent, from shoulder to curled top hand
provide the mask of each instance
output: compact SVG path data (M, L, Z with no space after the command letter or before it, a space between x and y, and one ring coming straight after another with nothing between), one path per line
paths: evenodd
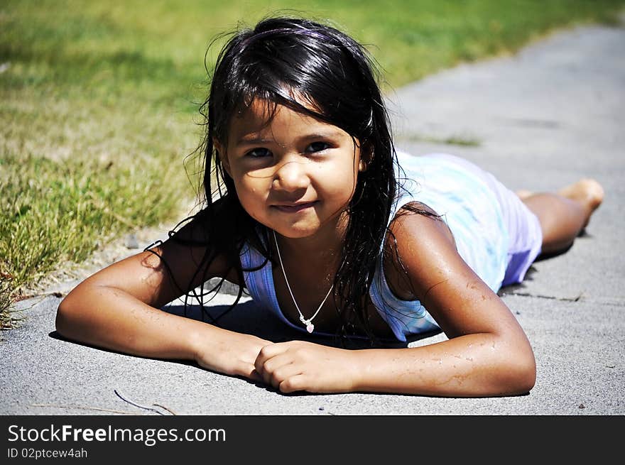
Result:
M299 341L266 346L256 370L276 388L376 391L454 397L527 393L536 381L529 341L504 302L458 255L447 226L421 214L392 226L406 280L449 340L406 349L347 351ZM397 257L394 257L397 262ZM393 267L393 265L391 265Z

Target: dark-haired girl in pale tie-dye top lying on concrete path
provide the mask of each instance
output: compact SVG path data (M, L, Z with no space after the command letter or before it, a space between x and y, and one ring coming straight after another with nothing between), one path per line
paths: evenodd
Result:
M531 390L531 345L496 291L572 244L602 202L596 181L518 197L460 158L396 153L364 48L304 19L232 35L202 110L204 209L80 283L60 334L283 393ZM303 335L371 348L276 344L158 310L216 277ZM385 347L440 329L437 344Z

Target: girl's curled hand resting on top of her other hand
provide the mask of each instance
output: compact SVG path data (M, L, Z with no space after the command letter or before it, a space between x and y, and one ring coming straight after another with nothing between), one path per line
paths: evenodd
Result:
M264 346L254 362L263 381L283 393L346 393L357 376L355 351L288 341Z

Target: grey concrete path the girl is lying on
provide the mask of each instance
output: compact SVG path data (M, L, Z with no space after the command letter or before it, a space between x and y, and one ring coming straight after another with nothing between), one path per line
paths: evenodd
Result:
M415 155L463 156L513 190L555 190L585 176L605 187L587 234L564 255L535 263L523 285L501 291L536 354L538 379L528 395L283 395L192 363L62 339L54 323L61 297L50 294L18 302L24 324L2 334L0 414L169 415L155 406L162 405L178 415L624 415L624 50L623 26L585 26L388 97L397 144ZM215 297L211 311L232 298ZM168 311L182 312L180 302ZM293 337L249 300L224 324L276 341Z

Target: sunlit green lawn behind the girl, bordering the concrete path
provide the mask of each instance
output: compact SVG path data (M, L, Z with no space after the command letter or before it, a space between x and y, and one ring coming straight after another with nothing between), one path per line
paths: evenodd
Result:
M187 177L183 160L200 140L205 51L240 18L254 23L286 6L330 18L368 45L388 90L458 62L512 53L553 28L615 23L624 5L3 1L0 327L14 324L9 307L23 289L63 263L85 260L125 231L185 214L181 205L191 202L197 178Z

